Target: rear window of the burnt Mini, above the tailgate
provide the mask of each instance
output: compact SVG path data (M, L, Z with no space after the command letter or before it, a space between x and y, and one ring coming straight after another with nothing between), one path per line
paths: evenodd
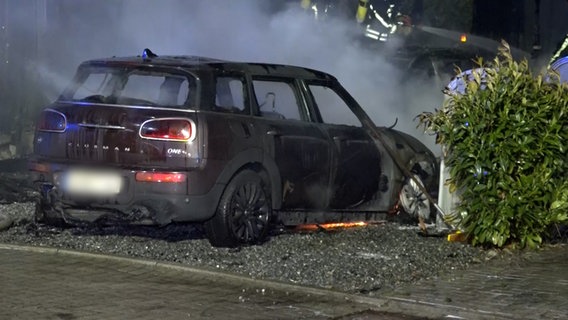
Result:
M187 108L197 105L197 80L188 74L83 67L60 100Z

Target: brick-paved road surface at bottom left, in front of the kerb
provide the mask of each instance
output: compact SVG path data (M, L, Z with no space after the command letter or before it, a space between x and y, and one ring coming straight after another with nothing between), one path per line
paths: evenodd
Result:
M0 275L0 319L329 319L369 308L325 291L13 246L0 248Z

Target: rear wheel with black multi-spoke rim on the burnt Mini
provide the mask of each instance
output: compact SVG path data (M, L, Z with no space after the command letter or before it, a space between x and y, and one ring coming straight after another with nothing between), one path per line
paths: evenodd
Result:
M204 227L211 245L238 247L265 240L271 218L268 184L257 172L245 169L231 179Z

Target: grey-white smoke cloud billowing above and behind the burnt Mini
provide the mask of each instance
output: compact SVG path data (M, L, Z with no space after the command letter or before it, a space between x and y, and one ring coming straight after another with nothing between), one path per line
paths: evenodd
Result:
M7 1L12 8L20 3ZM354 17L317 21L300 1L38 0L24 7L10 11L10 28L36 42L37 55L20 62L36 74L46 100L56 98L81 61L138 55L144 48L158 55L294 64L333 74L377 125L398 118L397 129L439 149L413 119L439 106L442 88L403 89L401 70L355 40L361 31Z

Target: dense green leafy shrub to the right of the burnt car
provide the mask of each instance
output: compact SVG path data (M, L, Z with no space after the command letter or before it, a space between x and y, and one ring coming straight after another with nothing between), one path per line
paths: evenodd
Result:
M537 247L568 220L568 86L534 76L506 43L479 64L485 74L464 79L465 94L419 115L420 125L445 149L458 227L472 243Z

